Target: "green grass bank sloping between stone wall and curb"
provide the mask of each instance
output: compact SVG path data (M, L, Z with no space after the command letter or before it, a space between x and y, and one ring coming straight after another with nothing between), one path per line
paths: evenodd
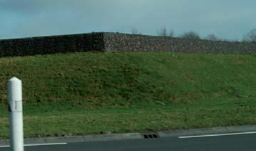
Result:
M25 137L256 124L254 55L68 53L0 58L0 138L7 81L23 81Z

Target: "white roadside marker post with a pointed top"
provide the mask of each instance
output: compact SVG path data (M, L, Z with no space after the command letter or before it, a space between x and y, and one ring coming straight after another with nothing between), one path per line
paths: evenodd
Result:
M10 142L12 151L24 151L22 84L18 78L8 81Z

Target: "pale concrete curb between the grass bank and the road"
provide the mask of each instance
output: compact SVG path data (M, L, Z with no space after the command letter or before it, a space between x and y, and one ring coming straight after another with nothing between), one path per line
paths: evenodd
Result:
M24 144L46 144L60 142L96 142L111 140L133 140L143 139L144 134L158 134L159 137L180 137L188 135L213 135L231 132L256 132L256 125L246 126L230 126L230 127L210 127L197 128L188 130L170 130L160 132L143 132L143 133L123 133L123 134L103 134L103 135L81 135L81 136L65 136L65 137L37 137L26 138ZM0 145L9 145L9 140L0 140Z

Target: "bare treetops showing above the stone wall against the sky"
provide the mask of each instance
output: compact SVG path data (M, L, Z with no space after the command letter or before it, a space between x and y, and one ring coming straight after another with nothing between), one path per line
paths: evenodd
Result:
M131 33L132 34L142 34L138 31L137 28L131 28ZM156 32L158 36L170 36L170 37L175 37L175 33L173 31L173 29L168 30L165 26L161 27L160 29L158 29L158 31ZM190 38L190 39L206 39L209 41L228 41L222 38L218 38L215 34L210 33L208 34L208 36L202 38L200 37L200 35L198 33L196 33L195 31L188 31L185 32L179 36L176 37L180 37L180 38ZM241 40L242 42L256 42L256 28L252 29L251 31L249 31L248 33L245 34L245 36L242 38Z

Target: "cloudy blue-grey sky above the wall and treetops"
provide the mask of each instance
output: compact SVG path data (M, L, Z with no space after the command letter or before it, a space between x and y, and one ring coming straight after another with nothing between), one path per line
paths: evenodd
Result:
M241 40L256 28L255 0L0 0L0 39L107 31Z

